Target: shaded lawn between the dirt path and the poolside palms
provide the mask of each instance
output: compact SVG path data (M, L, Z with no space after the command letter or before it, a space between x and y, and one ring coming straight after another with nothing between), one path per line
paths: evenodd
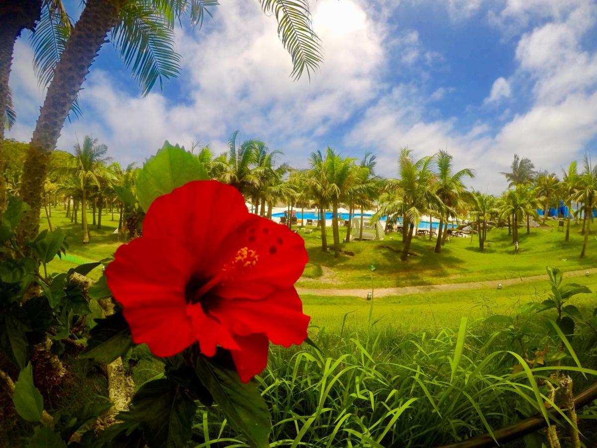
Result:
M593 228L595 223L593 223ZM507 228L488 232L491 247L479 251L476 235L471 238L451 238L442 247L442 252L433 252L435 240L413 238L407 262L400 260L401 234L390 233L383 241L353 241L342 244L343 251L337 259L332 251L321 251L321 234L314 231L304 235L309 264L306 275L297 286L309 289L334 289L370 287L370 265L376 266L374 282L376 287L401 287L425 284L464 283L482 280L527 277L545 272L545 266L557 266L563 271L593 268L597 266L597 231L592 230L587 244L587 256L580 259L583 237L581 225L571 224L570 241L564 241L564 234L557 230L557 221L548 220L547 225L531 229L520 229L520 248L514 254L512 240ZM345 230L341 231L343 235ZM302 234L301 234L302 235ZM328 243L331 229L328 230ZM318 275L321 269L321 275Z

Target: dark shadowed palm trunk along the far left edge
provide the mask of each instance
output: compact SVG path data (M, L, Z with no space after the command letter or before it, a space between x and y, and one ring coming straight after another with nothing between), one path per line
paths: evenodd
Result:
M6 181L4 179L4 155L2 142L4 140L4 119L8 106L8 78L13 64L14 43L24 28L33 28L35 20L41 11L41 1L22 2L13 0L2 6L0 16L0 214L6 208ZM40 185L41 189L41 185ZM39 211L38 211L39 219Z

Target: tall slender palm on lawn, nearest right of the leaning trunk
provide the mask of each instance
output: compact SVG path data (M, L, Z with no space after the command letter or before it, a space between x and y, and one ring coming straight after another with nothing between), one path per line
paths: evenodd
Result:
M100 186L101 178L110 176L106 167L109 158L106 157L108 148L100 145L97 139L85 136L83 144L76 143L74 146L75 155L72 156L71 165L66 167L79 180L81 189L81 220L83 226L83 243L89 243L89 228L87 224L87 200L89 185L91 182Z

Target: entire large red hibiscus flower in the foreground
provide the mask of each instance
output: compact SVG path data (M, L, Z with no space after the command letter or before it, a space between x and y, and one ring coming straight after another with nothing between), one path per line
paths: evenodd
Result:
M249 213L216 181L189 182L153 201L143 236L116 250L107 283L136 343L160 357L199 341L229 349L242 381L267 364L269 341L307 337L294 283L307 263L303 238Z

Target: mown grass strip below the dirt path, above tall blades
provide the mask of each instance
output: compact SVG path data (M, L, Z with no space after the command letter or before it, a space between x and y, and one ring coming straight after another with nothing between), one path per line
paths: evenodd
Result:
M571 304L589 317L597 306L597 275L567 278L564 283L579 283L589 287L590 294L578 294ZM544 281L505 286L503 289L481 288L438 293L420 293L408 296L380 297L372 303L365 297L330 297L305 295L304 312L311 316L313 329L325 328L338 333L346 329L362 330L371 321L376 327L393 329L398 333L421 332L456 327L461 317L470 322L480 321L493 314L512 314L516 306L540 302L550 292L547 274ZM586 311L586 312L585 312Z

